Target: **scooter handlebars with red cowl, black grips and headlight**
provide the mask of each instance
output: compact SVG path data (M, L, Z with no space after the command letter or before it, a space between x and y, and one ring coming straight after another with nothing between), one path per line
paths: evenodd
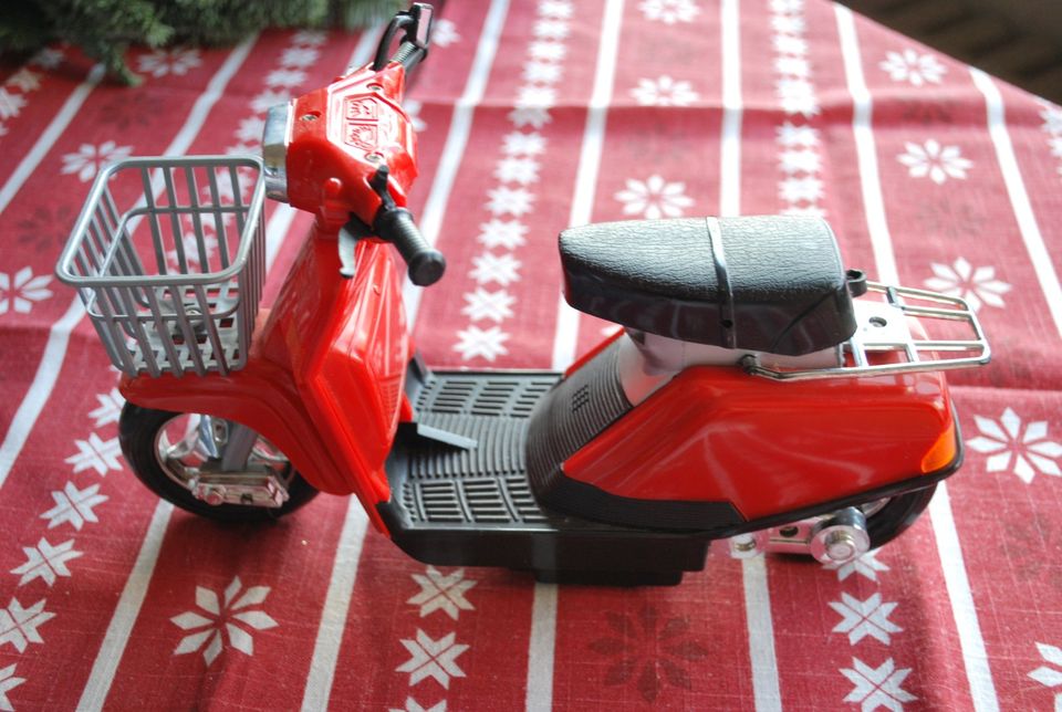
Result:
M397 104L404 74L428 54L431 18L431 6L415 2L387 25L372 65L270 111L262 142L269 195L311 212L324 209L333 227L347 217L337 231L344 278L355 274L356 243L373 235L398 249L418 286L435 284L446 270L442 254L402 207L416 159L414 130ZM365 193L365 182L378 200Z

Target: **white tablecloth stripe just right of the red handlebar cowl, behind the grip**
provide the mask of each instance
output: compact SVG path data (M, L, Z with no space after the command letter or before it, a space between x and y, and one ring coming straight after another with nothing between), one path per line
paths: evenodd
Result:
M465 149L468 146L468 136L472 130L472 115L476 106L483 101L487 80L490 77L490 70L494 65L498 41L501 38L501 30L506 24L508 13L509 0L491 0L487 19L483 20L482 32L479 35L479 43L476 45L476 56L472 60L468 82L465 83L465 91L461 96L454 104L450 130L446 135L446 144L442 146L439 166L435 171L435 179L431 181L431 190L428 192L428 199L424 203L424 210L418 221L420 233L428 244L438 242L439 230L442 228L442 217L446 214L446 206L450 201L454 181L457 180L457 172L461 167L461 159L465 157ZM409 280L406 280L402 294L403 301L406 303L406 317L412 331L417 321L417 312L420 311L420 297L424 295L424 287L416 286Z

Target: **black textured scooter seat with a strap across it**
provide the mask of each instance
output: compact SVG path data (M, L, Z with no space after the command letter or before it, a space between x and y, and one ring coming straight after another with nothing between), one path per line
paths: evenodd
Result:
M820 218L605 222L565 230L560 243L569 304L633 329L790 356L855 333Z

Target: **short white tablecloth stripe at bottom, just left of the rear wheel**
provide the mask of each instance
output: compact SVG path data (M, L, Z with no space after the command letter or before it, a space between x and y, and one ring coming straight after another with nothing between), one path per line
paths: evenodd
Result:
M757 712L782 709L774 655L774 622L771 594L767 586L767 561L753 556L741 562L745 583L745 618L749 629L749 659L752 663L752 694Z

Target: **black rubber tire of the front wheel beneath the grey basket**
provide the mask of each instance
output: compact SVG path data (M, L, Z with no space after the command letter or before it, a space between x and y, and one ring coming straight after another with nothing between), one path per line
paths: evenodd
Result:
M118 440L133 473L147 489L180 509L221 522L261 522L275 520L312 500L317 490L298 472L290 473L288 501L279 507L243 506L240 504L207 504L196 499L187 488L166 473L156 450L159 431L183 413L142 408L131 402L122 409ZM290 469L291 465L289 464Z

